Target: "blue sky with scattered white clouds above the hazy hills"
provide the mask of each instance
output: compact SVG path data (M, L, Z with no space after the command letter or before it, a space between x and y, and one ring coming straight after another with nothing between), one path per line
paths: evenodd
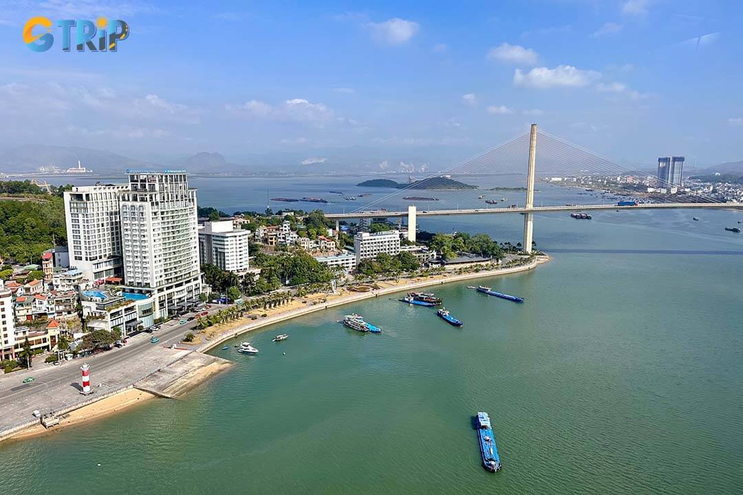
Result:
M4 0L0 148L463 157L528 130L629 163L743 160L743 2ZM32 16L122 19L30 50ZM34 33L41 34L37 27Z

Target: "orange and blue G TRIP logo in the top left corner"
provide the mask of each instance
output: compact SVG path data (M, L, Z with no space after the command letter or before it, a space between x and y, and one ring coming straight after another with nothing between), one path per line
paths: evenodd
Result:
M87 19L51 19L36 16L28 19L23 27L23 42L33 51L46 51L54 45L53 27L62 31L62 51L71 51L70 39L74 28L77 51L116 51L118 42L129 37L129 24L120 19L99 17L95 22ZM38 34L40 31L43 33ZM36 31L37 34L34 34Z

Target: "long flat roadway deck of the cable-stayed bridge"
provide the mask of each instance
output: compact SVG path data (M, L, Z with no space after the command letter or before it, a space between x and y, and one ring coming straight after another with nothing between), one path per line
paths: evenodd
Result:
M577 206L534 206L533 208L478 208L457 210L418 210L418 217L435 217L437 215L459 214L500 214L500 213L539 213L539 212L582 212L585 210L638 210L638 209L743 209L743 203L640 203L637 206L613 205L577 205ZM326 213L326 218L371 218L407 217L408 212L356 212Z

